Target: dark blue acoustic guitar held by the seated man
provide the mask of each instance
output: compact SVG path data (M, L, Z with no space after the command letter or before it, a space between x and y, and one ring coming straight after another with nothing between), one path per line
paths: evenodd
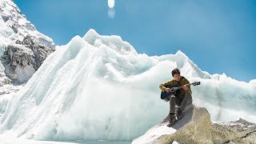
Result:
M190 86L190 85L198 86L198 85L200 85L200 83L201 82L193 82L193 83L190 83L190 84L186 84L186 86ZM178 83L175 83L173 85L167 85L166 88L170 88L170 93L167 93L166 91L161 92L161 99L166 101L166 102L169 102L170 95L175 95L176 90L182 89L182 86L178 86Z

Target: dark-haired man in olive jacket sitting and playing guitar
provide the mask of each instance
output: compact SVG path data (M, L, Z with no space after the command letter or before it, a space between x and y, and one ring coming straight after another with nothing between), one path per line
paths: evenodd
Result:
M176 91L175 95L170 95L170 112L169 112L169 124L167 126L173 126L174 123L177 121L175 118L175 106L178 106L177 109L177 118L182 118L182 111L185 110L186 105L192 103L192 91L190 90L190 86L186 86L190 82L180 75L180 71L176 68L171 72L173 76L173 80L169 82L162 83L159 88L166 93L170 93L170 88L166 88L168 85L177 84L182 86L182 89Z

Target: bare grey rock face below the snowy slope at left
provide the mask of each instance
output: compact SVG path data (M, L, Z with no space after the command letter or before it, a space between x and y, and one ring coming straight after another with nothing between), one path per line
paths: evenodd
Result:
M5 73L14 83L27 82L54 50L38 44L38 39L27 35L23 41L16 41L6 47L1 57Z

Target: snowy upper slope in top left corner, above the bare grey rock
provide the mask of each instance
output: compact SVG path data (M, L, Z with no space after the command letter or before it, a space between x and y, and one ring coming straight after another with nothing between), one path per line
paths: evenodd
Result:
M54 46L53 40L38 32L13 1L1 0L0 8L0 39L4 39L7 43L15 43L16 40L22 41L27 34L30 34L38 38L42 45Z

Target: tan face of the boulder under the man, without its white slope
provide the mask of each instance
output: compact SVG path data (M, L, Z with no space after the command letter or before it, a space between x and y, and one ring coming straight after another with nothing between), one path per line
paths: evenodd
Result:
M177 130L174 134L162 135L155 143L172 143L174 141L190 144L213 143L210 114L204 107L193 106L193 109L189 110L185 117L172 127Z

